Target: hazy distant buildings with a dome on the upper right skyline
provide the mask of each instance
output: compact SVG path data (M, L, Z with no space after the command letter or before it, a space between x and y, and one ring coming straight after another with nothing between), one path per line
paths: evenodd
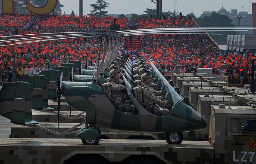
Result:
M232 19L232 23L236 27L253 27L253 15L248 14L247 11L237 12L237 9L231 9L231 11L227 11L223 6L219 11L204 11L200 17L210 16L213 12L218 13L220 15L227 15ZM240 21L240 22L239 22ZM244 31L240 34L252 34L253 30Z

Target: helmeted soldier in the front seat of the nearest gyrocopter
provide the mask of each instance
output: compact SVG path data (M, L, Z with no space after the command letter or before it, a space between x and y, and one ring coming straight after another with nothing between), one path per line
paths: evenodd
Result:
M157 116L165 116L168 115L168 109L162 109L157 104L162 104L166 106L169 102L159 100L153 93L152 89L150 88L151 84L151 73L147 72L141 76L141 80L144 82L144 87L142 87L142 93L144 96L144 107L147 111L157 115Z

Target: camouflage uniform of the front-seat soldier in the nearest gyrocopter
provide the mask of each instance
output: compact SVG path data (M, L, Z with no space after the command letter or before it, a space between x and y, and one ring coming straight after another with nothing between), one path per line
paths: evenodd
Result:
M142 93L144 96L144 107L147 109L147 111L157 116L165 116L169 113L168 109L162 109L157 105L163 105L164 101L159 100L159 98L155 96L152 88L150 88L150 85L144 84L144 87L142 87Z

